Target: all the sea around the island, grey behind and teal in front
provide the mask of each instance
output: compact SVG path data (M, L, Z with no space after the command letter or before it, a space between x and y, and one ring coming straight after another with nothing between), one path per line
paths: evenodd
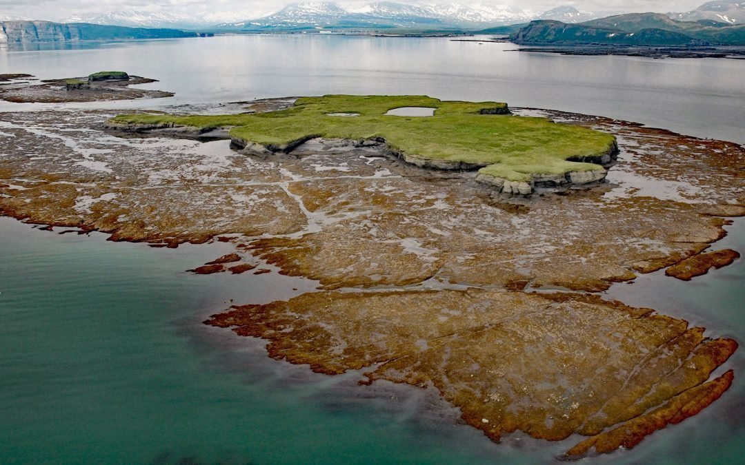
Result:
M0 50L0 72L42 78L121 68L177 97L138 108L329 92L430 94L564 109L745 142L745 62L562 57L448 39L226 36L57 51ZM54 106L11 106L39 109ZM0 139L2 134L0 134ZM714 248L745 251L745 222ZM107 243L0 219L2 463L545 462L567 444L494 444L433 393L324 376L268 359L263 343L200 324L236 303L314 283L184 272L228 249ZM694 278L661 273L607 295L745 341L745 260ZM292 289L298 289L294 291ZM735 385L694 419L592 462L738 463L745 352ZM571 441L570 441L571 443Z

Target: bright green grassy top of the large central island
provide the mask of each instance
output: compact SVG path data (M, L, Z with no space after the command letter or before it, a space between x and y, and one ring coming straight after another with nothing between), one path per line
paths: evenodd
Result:
M417 118L385 115L391 109L437 109ZM442 101L425 96L326 95L302 97L289 109L244 115L119 115L118 124L178 124L202 129L233 126L232 138L270 149L314 137L352 140L384 138L393 150L428 160L483 166L480 173L529 181L533 173L602 170L597 164L567 161L608 153L615 138L546 118L495 115L505 103ZM334 116L332 114L357 114ZM492 114L489 114L492 113Z

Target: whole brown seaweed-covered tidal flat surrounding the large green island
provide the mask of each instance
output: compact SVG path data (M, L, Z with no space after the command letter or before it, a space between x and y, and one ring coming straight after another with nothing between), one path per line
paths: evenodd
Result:
M0 211L153 246L223 242L235 255L210 260L217 272L240 262L319 283L206 321L266 339L270 356L429 386L493 440L630 448L723 394L732 371L711 373L737 344L594 293L723 237L745 214L745 150L540 112L615 135L605 184L516 198L379 147L252 157L228 141L121 138L107 112L4 113Z

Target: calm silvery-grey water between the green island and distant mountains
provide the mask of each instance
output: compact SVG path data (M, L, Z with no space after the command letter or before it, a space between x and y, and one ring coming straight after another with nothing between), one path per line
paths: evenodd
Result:
M43 79L122 69L176 97L115 108L293 95L428 94L506 100L745 143L742 60L519 53L509 43L294 34L0 50L0 68ZM38 106L37 106L38 108ZM8 109L0 105L0 110Z

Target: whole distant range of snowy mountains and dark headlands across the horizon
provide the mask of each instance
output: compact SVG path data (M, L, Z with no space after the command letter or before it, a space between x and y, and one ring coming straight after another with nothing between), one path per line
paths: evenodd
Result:
M531 13L496 4L425 4L378 1L355 9L333 2L290 4L258 19L221 22L243 13L194 15L120 10L104 16L74 16L59 24L38 21L0 22L0 43L57 40L149 39L194 36L177 31L390 33L506 33L523 44L607 45L745 45L745 0L718 0L688 13L628 13L599 17L574 7ZM2 16L0 16L2 18ZM207 26L210 22L212 26ZM92 24L104 23L104 24ZM116 24L116 25L112 25ZM137 25L131 28L121 25ZM154 28L166 25L168 28Z

